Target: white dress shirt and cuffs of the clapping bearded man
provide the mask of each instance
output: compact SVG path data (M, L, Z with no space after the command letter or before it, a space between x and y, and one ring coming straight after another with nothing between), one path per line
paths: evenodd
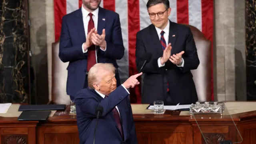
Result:
M90 12L88 12L86 9L84 9L83 7L83 4L82 4L82 17L83 17L83 22L84 22L84 32L85 32L85 37L87 37L87 34L88 34L88 22L90 20L90 16L88 15ZM94 22L94 28L96 28L97 30L97 27L98 27L98 13L99 13L99 8L97 8L96 10L94 10L92 12L93 16L92 16L92 19L93 19L93 22ZM84 43L82 44L82 50L83 50L83 53L86 53L88 50L84 51ZM102 48L100 48L102 50ZM105 50L107 49L107 46L105 48ZM103 50L103 51L105 51ZM96 50L95 50L95 53L96 53ZM96 54L96 62L97 62L97 54Z

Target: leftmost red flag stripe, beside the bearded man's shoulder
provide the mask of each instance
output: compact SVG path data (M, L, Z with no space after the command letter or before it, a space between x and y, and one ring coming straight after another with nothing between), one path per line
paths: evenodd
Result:
M55 42L60 37L62 17L66 14L66 0L54 0L54 32Z

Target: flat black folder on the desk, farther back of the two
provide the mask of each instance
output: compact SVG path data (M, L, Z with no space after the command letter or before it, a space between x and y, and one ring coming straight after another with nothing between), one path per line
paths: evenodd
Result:
M34 105L20 105L18 111L32 111L32 110L65 110L65 104L34 104Z

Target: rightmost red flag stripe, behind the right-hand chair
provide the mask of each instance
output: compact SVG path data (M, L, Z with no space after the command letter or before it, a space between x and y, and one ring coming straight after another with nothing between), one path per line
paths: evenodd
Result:
M206 39L210 40L212 43L211 48L211 62L212 62L212 69L213 69L213 0L202 0L202 33L206 37ZM211 74L211 88L212 88L212 100L214 100L214 93L213 93L213 71Z

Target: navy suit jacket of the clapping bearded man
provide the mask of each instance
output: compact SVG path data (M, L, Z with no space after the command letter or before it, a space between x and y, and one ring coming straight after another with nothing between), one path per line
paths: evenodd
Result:
M98 34L102 30L106 32L106 51L96 47L98 63L112 63L116 68L116 60L124 56L124 44L120 26L119 15L116 12L99 7L98 12ZM59 57L62 62L69 62L67 94L74 96L78 90L87 86L87 52L83 53L82 44L86 41L82 9L63 16L60 34ZM117 86L120 85L118 70L116 71Z

